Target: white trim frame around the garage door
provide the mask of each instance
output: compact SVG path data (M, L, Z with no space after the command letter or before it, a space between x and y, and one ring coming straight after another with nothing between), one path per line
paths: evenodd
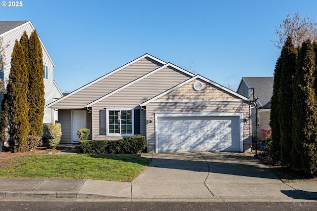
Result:
M155 152L159 152L159 117L239 117L239 148L243 152L243 112L229 113L154 113L155 117Z

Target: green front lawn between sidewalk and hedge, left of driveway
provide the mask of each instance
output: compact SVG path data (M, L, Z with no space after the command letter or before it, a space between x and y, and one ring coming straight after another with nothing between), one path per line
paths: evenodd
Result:
M27 155L0 169L2 178L83 178L132 181L151 159L117 155Z

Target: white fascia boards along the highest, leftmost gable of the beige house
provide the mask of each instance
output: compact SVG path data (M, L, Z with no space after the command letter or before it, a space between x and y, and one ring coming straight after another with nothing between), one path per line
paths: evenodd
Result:
M62 97L62 98L60 98L60 99L58 99L58 100L55 100L54 102L52 102L52 104L49 104L49 105L52 106L52 105L54 105L55 103L58 103L58 102L60 102L60 101L62 101L62 100L64 100L64 99L66 99L67 97L70 97L70 96L72 96L73 94L76 94L77 92L79 92L79 91L81 91L81 90L83 90L83 89L85 89L85 88L87 88L87 87L89 87L89 86L91 86L91 85L93 85L93 84L96 84L97 82L100 82L101 80L103 80L103 79L105 79L105 78L111 76L112 74L115 74L116 72L122 70L123 68L126 68L126 67L128 67L128 66L130 66L130 65L132 65L132 64L134 64L134 63L136 63L137 61L140 61L141 59L146 58L146 57L149 57L149 58L151 58L151 59L153 59L153 60L155 60L155 61L157 61L157 62L159 62L159 63L161 63L161 64L163 64L163 65L166 64L166 62L164 62L164 61L162 61L162 60L159 60L158 58L156 58L156 57L154 57L154 56L151 56L150 54L147 54L147 53L146 53L146 54L144 54L143 56L140 56L139 58L137 58L137 59L135 59L135 60L133 60L133 61L131 61L131 62L129 62L129 63L127 63L127 64L125 64L125 65L123 65L123 66L121 66L121 67L119 67L119 68L117 68L117 69L115 69L115 70L113 70L113 71L111 71L110 73L107 73L106 75L104 75L104 76L102 76L102 77L96 79L95 81L93 81L93 82L91 82L91 83L89 83L89 84L86 84L86 85L84 85L84 86L82 86L82 87L80 87L80 88L78 88L78 89L76 89L76 90L70 92L70 93L67 94L66 96L64 96L64 97ZM91 104L91 103L90 103L90 104Z

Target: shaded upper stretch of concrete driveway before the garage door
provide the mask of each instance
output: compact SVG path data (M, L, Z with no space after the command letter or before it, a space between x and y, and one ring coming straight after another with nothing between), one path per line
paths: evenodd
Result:
M245 153L158 153L150 166L279 180L252 154Z

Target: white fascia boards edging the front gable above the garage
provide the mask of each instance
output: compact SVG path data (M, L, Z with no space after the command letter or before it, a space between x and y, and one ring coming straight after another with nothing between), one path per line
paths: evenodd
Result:
M214 83L213 81L211 81L211 80L209 80L209 79L206 79L206 78L204 78L204 77L202 77L202 76L200 76L200 75L196 75L195 77L190 78L190 79L188 79L187 81L185 81L185 82L183 82L183 83L181 83L181 84L178 84L178 85L174 86L173 88L168 89L168 90L162 92L161 94L159 94L159 95L153 97L152 99L149 99L148 101L145 101L144 103L141 104L141 106L145 106L145 105L147 105L148 103L153 102L154 100L158 99L159 97L164 96L165 94L168 94L169 92L171 92L171 91L173 91L173 90L175 90L175 89L177 89L177 88L179 88L179 87L181 87L181 86L183 86L183 85L185 85L185 84L188 84L189 82L191 82L191 81L193 81L193 80L195 80L195 79L201 79L201 80L203 80L203 81L205 81L205 82L207 82L207 83L209 83L209 84L212 84L212 85L214 85L214 86L216 86L216 87L218 87L218 88L223 89L224 91L227 91L227 92L229 92L229 93L231 93L231 94L233 94L233 95L235 95L235 96L241 98L242 100L248 101L248 98L246 98L245 96L242 96L241 94L238 94L237 92L232 91L231 89L228 89L228 88L226 88L226 87L224 87L224 86L222 86L222 85L220 85L220 84Z

